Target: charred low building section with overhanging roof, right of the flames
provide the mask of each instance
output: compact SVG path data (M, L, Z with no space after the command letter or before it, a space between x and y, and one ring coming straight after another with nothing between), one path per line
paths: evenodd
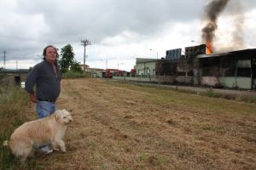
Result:
M256 88L256 49L224 54L202 54L200 78L202 85L224 88Z

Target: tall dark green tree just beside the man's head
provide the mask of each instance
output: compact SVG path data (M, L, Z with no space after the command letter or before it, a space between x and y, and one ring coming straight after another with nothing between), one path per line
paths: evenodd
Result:
M61 72L67 72L74 63L77 63L74 59L74 55L73 47L70 44L61 48L61 59L59 61L59 64L61 65Z

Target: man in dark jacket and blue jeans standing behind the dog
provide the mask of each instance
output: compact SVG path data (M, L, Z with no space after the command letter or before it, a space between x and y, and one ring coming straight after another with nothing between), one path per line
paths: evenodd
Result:
M57 50L49 45L44 48L44 61L35 65L26 76L25 89L30 100L37 104L38 118L54 113L55 101L61 93L61 71L57 65ZM33 88L36 86L36 93ZM52 152L48 146L41 148L46 154Z

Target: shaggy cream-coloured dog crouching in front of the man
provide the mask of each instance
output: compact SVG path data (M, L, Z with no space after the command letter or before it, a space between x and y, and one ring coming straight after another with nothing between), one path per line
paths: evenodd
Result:
M58 110L51 116L26 122L18 127L10 137L9 146L12 153L25 161L27 156L33 156L34 149L51 144L54 150L61 148L66 152L63 138L67 124L73 122L73 118L66 110Z

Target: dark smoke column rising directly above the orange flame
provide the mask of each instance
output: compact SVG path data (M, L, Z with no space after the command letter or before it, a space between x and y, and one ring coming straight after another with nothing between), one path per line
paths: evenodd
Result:
M224 10L230 0L213 0L206 8L207 25L201 30L203 42L213 42L214 32L217 30L218 15Z

